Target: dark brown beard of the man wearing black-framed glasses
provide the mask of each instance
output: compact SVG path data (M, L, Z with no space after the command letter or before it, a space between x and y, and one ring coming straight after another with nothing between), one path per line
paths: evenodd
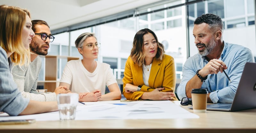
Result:
M31 44L29 45L30 51L33 53L36 53L38 55L47 55L48 54L48 49L42 49L44 46L49 46L49 43L44 43L40 45L39 43L36 43L35 41L31 41Z

